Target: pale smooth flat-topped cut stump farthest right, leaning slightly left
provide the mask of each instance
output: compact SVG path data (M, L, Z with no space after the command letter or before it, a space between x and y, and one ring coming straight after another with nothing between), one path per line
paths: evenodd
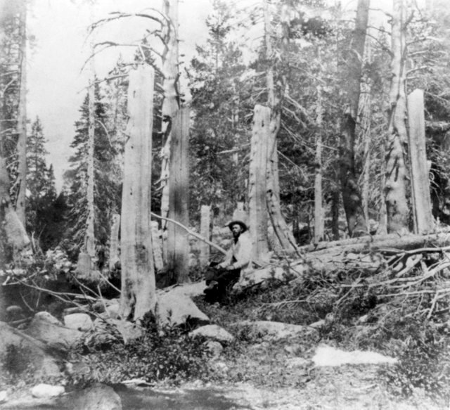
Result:
M408 96L408 121L414 233L426 233L434 229L434 224L425 149L425 115L422 90L416 89Z

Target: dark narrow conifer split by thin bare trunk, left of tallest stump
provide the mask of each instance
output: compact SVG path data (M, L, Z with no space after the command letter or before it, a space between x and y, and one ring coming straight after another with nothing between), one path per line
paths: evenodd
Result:
M117 162L114 161L116 150L105 127L105 104L98 84L95 94L94 236L101 267L107 250L111 217L120 207L120 192L114 177L117 174ZM81 117L75 122L75 137L70 145L75 153L69 158L70 169L64 174L69 207L65 248L73 258L82 248L86 233L89 96L84 98L79 112Z

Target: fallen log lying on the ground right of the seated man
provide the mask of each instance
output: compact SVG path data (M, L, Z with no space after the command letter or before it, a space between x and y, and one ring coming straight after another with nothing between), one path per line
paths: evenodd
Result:
M304 256L300 260L280 260L278 266L271 265L263 269L246 274L236 284L235 290L240 293L255 285L266 282L269 278L291 280L314 271L333 274L338 271L359 269L367 274L375 274L386 267L390 258L397 255L409 256L422 252L450 252L450 231L432 233L429 235L391 234L386 236L365 236L345 241L335 241L307 245L300 248ZM411 259L409 264L405 260L401 267L418 264L419 260ZM450 259L447 261L450 264ZM406 266L408 265L408 266ZM399 268L399 270L401 270Z

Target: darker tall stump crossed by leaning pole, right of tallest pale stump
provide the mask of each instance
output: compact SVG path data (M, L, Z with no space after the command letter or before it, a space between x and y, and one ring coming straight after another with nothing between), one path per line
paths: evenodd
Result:
M169 218L184 226L189 224L189 120L189 108L181 108L172 122L169 159ZM175 224L167 226L167 271L170 282L189 281L188 236Z

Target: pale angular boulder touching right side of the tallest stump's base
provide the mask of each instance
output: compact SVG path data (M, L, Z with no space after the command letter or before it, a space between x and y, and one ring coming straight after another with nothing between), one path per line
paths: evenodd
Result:
M210 322L181 287L173 288L168 292L157 294L156 318L161 327L180 326L186 322L190 324L205 324Z

